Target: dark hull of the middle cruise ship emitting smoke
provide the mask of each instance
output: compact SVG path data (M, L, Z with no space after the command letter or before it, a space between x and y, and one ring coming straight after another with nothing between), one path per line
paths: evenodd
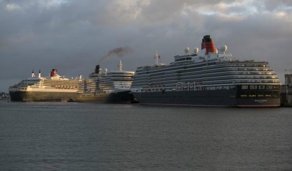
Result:
M118 93L77 94L77 102L131 103L133 100L134 96L131 91Z

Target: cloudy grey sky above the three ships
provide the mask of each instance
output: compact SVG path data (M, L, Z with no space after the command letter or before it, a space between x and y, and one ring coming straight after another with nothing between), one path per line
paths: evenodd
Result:
M41 69L85 77L116 47L108 71L170 63L211 35L238 59L269 62L281 82L292 69L292 0L0 0L0 92Z

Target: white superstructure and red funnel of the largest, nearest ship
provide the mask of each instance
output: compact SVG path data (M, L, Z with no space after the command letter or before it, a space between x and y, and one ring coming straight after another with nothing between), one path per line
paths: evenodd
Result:
M169 65L159 62L160 56L156 52L154 65L137 67L131 90L203 91L235 89L237 85L270 90L280 86L279 78L268 62L240 61L226 51L226 45L215 48L207 35L200 51L195 47L191 53L187 47L185 54L174 56L174 62Z

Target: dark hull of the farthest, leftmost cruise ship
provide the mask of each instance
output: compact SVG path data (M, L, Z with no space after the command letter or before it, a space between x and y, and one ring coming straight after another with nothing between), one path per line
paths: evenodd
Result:
M76 93L70 92L9 92L11 101L67 102L76 99Z

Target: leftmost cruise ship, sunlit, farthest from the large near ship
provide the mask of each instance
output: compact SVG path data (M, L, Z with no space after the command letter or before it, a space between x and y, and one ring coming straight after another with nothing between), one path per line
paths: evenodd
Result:
M38 77L34 70L30 78L20 81L18 84L9 87L11 101L53 101L61 102L75 99L79 78L65 78L58 75L56 69L52 69L49 77L41 77L39 70Z

